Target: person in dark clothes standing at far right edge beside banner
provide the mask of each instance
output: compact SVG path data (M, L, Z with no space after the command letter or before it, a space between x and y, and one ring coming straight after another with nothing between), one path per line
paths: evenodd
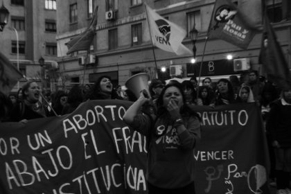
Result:
M278 193L286 190L286 193L291 193L291 89L283 90L281 98L271 104L266 127L276 156Z

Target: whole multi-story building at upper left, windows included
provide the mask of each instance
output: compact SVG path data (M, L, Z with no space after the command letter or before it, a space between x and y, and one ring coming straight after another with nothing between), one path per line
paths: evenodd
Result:
M44 88L53 89L54 69L58 67L56 1L3 0L2 3L10 15L0 33L1 53L27 79L35 79ZM12 91L16 92L24 82L26 79L20 80Z

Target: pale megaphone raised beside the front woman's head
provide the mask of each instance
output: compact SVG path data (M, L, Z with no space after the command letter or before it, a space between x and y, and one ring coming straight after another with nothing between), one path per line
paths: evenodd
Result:
M134 76L131 76L126 82L125 87L130 89L136 98L139 98L141 95L141 91L145 89L148 92L150 97L150 91L148 89L148 80L150 80L150 76L147 73L137 73Z

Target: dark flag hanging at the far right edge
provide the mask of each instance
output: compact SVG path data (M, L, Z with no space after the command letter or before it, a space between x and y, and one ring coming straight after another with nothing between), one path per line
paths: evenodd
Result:
M266 14L259 61L263 64L268 80L276 83L282 89L291 89L291 73L288 63Z

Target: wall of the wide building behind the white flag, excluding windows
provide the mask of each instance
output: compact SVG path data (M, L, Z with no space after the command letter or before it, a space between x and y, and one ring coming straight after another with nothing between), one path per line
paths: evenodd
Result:
M87 1L70 1L85 4ZM170 21L179 24L186 29L187 21L186 14L194 10L200 10L202 30L198 36L197 47L197 64L202 60L204 50L206 31L209 27L213 6L213 0L195 0L195 1L146 1L148 5L159 13L159 15L168 17ZM60 2L58 7L62 12L58 12L59 17L68 17L67 10L69 3ZM60 32L58 33L58 53L59 61L63 62L63 71L69 76L79 76L80 80L87 83L91 73L105 73L118 71L118 84L124 85L125 81L132 76L133 71L147 71L150 75L155 74L155 60L157 67L169 68L171 64L181 64L184 70L183 76L186 76L186 64L193 58L192 55L178 56L174 53L162 51L159 48L154 48L155 58L150 44L150 34L148 29L148 22L145 19L145 8L143 5L130 6L130 1L119 1L117 16L115 20L107 21L105 19L105 1L95 2L98 9L98 25L96 28L96 38L94 44L93 55L96 55L98 61L95 66L87 67L84 73L84 66L78 64L78 57L85 56L86 52L79 52L78 55L68 56L67 46L64 45L72 37L80 34L85 30L85 26L78 28L78 30L69 30L69 24L61 24ZM61 6L66 6L62 8ZM64 10L64 11L63 11ZM64 13L65 15L63 15ZM66 20L66 19L64 19ZM78 20L79 23L79 20ZM142 24L142 39L143 43L139 46L131 46L131 26L132 24ZM78 24L79 25L79 24ZM59 26L59 25L58 25ZM288 55L288 48L290 48L290 22L277 23L273 25L282 46L283 53L290 64L290 55ZM116 50L108 50L108 30L118 28L118 48ZM191 39L186 37L183 44L189 49L192 48ZM232 54L234 58L249 58L252 64L252 69L261 70L261 65L258 64L258 55L261 49L261 33L255 35L247 50L242 50L237 46L233 46L221 39L208 39L204 53L204 61L222 60L226 58L227 54ZM197 65L195 64L195 65ZM85 77L83 76L85 75ZM82 83L80 81L80 83ZM68 85L69 82L67 83Z

